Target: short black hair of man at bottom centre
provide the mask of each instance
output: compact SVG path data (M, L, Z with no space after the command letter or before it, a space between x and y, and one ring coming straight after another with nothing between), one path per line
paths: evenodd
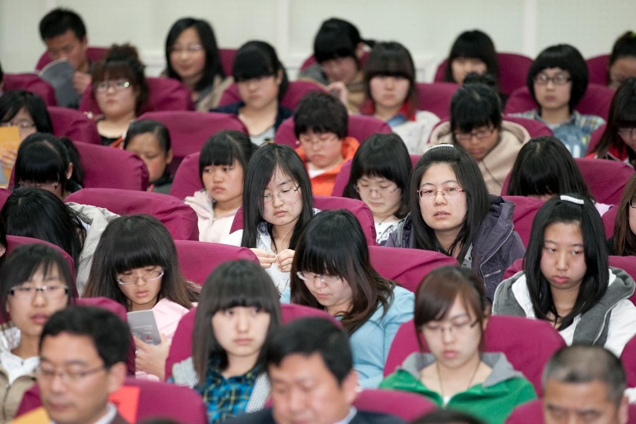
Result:
M342 329L325 318L300 318L273 333L265 356L269 367L280 366L289 355L309 357L318 353L325 366L342 385L354 368L349 338Z

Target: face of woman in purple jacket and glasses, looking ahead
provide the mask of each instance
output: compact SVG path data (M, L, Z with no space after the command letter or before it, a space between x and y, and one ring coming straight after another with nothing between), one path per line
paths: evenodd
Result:
M448 197L442 190L463 190L453 169L447 164L434 164L420 180L420 190L427 190L433 197L420 197L422 219L436 234L457 234L466 220L466 193Z

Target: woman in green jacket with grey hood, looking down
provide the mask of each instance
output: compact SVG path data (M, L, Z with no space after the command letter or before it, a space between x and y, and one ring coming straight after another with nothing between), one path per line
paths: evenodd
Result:
M417 288L414 321L431 353L411 353L380 388L419 393L440 407L503 424L536 393L504 353L480 351L489 316L483 284L469 269L429 272Z

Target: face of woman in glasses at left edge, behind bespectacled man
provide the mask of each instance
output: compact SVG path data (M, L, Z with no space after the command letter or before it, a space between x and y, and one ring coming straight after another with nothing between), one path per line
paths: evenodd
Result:
M43 286L48 289L32 293L34 288ZM6 310L11 321L24 336L39 337L48 318L68 304L66 287L57 265L53 264L46 274L39 267L29 281L13 286L14 294L7 297Z

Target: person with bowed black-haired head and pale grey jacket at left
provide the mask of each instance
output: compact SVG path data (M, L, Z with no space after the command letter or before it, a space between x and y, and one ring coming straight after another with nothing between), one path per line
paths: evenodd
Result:
M20 187L4 203L2 216L6 234L48 241L70 255L81 295L102 232L119 215L87 204L65 204L43 188Z

